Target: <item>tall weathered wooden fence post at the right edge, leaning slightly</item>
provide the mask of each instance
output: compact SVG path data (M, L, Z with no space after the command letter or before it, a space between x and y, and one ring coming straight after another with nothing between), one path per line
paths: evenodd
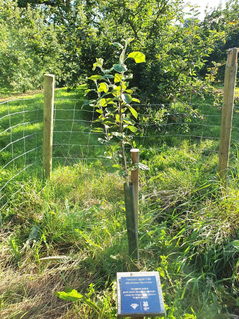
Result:
M218 174L224 186L227 182L230 139L232 130L232 114L237 71L237 48L228 50L226 63L223 103L221 115L221 137L219 146Z

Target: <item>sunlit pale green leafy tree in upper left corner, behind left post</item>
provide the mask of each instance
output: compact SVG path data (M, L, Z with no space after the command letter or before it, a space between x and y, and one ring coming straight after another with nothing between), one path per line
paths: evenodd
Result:
M65 78L53 25L47 25L40 8L19 9L12 1L0 1L0 81L18 92L38 89L44 73ZM54 52L54 53L53 53Z

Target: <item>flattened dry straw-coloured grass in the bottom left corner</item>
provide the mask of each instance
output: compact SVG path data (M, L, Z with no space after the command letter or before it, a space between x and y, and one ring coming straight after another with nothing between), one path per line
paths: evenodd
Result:
M35 263L20 269L16 263L12 264L0 277L1 319L76 318L77 305L66 303L54 292L64 291L67 285L82 291L97 279L89 276L79 260L73 264L48 264L42 273ZM79 313L77 318L81 318Z

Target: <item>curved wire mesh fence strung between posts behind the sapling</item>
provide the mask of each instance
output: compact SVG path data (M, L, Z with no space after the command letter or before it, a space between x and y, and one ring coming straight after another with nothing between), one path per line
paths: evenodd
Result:
M98 113L82 108L83 100L54 100L53 169L78 162L100 165L109 160L102 133L92 132ZM128 146L140 149L140 160L150 168L141 182L153 182L165 167L217 173L221 106L200 103L135 105L139 114ZM235 106L229 165L235 169L239 148L239 108ZM14 205L25 177L42 176L43 99L9 100L0 104L0 211ZM118 146L113 146L117 148ZM130 154L127 154L130 158ZM1 221L2 222L2 221Z

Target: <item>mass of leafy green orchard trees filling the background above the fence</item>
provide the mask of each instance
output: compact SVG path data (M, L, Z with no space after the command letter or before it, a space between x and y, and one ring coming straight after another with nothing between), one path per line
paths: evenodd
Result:
M45 72L60 84L83 83L95 74L95 57L106 67L119 60L120 50L109 44L134 37L132 49L143 52L146 63L127 66L142 101L203 97L212 91L213 61L224 59L232 26L238 32L237 0L203 22L197 8L185 14L182 0L0 1L0 77L19 91L41 86Z

